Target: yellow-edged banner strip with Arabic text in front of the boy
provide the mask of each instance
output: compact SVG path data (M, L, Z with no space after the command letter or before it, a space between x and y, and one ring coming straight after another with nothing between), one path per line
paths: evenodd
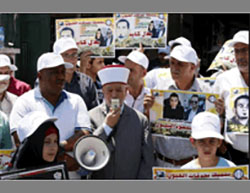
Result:
M248 180L248 165L201 169L153 167L153 180Z

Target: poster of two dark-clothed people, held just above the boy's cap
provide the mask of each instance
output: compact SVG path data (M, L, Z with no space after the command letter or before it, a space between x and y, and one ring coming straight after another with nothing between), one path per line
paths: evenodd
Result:
M217 113L214 105L217 94L155 89L151 92L155 102L150 109L150 122L156 134L189 137L191 122L197 113Z

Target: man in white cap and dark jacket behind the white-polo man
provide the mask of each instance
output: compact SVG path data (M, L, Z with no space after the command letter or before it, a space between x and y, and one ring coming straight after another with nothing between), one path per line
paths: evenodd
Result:
M66 70L64 89L82 97L88 110L97 106L97 94L93 81L89 76L76 70L78 47L73 38L60 38L53 45L53 52L60 54L65 62L73 64L73 68Z

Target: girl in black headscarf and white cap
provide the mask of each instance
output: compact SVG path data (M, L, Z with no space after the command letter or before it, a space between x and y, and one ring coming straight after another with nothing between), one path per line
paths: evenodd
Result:
M11 161L12 169L39 168L57 162L59 130L55 120L35 111L19 122L17 133L21 145Z

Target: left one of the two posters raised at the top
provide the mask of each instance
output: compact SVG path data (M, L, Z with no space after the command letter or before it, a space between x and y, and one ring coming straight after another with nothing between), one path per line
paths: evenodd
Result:
M114 18L57 19L56 39L72 37L79 51L92 51L95 57L115 57Z

